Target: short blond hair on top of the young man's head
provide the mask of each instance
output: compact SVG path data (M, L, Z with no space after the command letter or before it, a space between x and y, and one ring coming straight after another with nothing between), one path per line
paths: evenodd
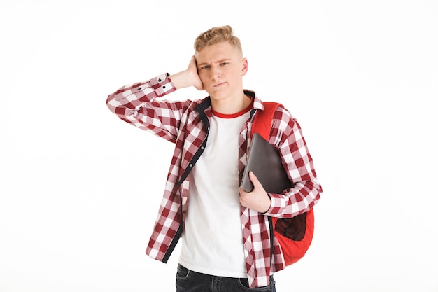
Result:
M195 52L199 52L206 46L216 45L216 43L221 43L222 41L227 41L243 55L240 39L234 36L233 29L229 25L212 27L206 32L199 34L195 39Z

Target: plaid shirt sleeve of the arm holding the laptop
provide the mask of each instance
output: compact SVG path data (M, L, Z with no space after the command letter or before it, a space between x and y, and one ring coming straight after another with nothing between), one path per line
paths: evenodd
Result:
M292 188L281 194L269 193L271 207L265 214L292 218L309 211L320 200L323 189L297 120L280 106L274 114L272 127L271 139L275 139L274 145L281 154Z

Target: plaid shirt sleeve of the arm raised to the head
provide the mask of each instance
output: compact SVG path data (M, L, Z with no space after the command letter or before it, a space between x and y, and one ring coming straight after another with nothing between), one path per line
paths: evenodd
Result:
M169 74L162 74L149 81L123 86L106 99L108 109L121 120L175 143L179 120L191 102L157 99L176 90L167 76Z

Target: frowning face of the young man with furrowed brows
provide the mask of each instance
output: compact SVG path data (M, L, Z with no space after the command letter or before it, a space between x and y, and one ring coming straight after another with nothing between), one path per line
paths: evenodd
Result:
M228 42L207 46L195 53L199 78L211 99L232 99L243 94L242 76L248 61Z

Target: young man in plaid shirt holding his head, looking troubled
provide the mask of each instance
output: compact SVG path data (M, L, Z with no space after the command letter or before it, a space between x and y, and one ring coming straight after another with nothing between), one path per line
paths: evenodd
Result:
M269 142L281 153L293 187L267 193L255 175L251 193L239 188L256 111L243 90L248 61L232 28L213 27L195 41L188 68L127 85L108 96L119 118L176 144L164 197L146 253L166 263L178 239L176 291L275 291L272 274L285 267L267 216L292 218L320 199L313 160L299 124L280 107ZM169 102L179 88L206 90L202 100ZM213 289L213 290L211 290Z

